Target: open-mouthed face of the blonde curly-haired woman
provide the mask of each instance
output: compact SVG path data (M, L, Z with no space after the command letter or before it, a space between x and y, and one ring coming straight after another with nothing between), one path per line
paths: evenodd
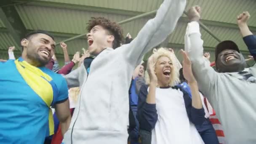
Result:
M171 72L173 71L172 61L166 57L161 56L157 59L155 64L155 74L157 76L157 83L160 87L166 87L171 82Z

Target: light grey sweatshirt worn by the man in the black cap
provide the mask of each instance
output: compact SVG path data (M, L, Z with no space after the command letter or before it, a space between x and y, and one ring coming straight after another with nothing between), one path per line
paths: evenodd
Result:
M256 144L256 83L243 80L237 72L218 73L203 59L199 24L187 26L185 50L200 91L220 119L228 144ZM256 77L256 65L245 69Z

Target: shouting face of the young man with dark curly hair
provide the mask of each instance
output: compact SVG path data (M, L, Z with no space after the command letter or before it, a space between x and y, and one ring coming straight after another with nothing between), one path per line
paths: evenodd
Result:
M104 48L112 48L113 41L114 36L100 25L93 27L87 34L88 51L94 55L98 55Z

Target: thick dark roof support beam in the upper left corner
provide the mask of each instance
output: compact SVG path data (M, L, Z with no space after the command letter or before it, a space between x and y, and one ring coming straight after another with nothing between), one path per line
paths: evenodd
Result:
M9 5L0 8L0 18L16 42L16 46L18 46L21 51L20 42L21 39L24 38L24 35L26 35L27 29L24 26L19 13L16 11L15 6Z

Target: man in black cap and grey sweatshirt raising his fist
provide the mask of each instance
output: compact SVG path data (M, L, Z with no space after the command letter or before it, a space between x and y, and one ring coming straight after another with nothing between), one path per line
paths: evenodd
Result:
M191 22L185 35L185 50L192 61L200 91L213 104L228 144L255 144L256 64L245 68L239 48L227 40L216 46L216 72L202 58L203 40L198 23L200 7L192 7L188 13Z

